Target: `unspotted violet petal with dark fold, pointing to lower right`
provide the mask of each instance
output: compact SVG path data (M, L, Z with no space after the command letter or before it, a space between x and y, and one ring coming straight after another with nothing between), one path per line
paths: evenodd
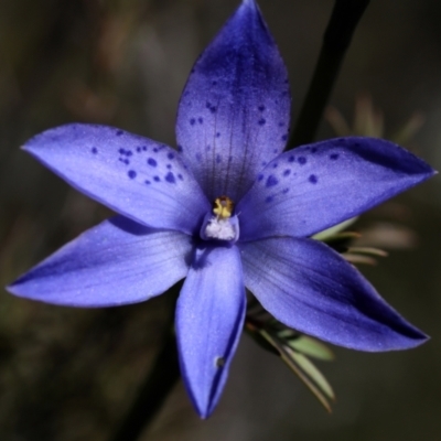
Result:
M240 244L240 249L246 287L288 326L370 352L410 348L427 340L322 243L284 237Z

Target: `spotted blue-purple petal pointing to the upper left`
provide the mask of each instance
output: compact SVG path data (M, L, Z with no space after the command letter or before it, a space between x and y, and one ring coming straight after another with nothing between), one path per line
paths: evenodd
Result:
M191 234L209 204L173 149L106 126L67 125L24 150L75 189L155 228Z

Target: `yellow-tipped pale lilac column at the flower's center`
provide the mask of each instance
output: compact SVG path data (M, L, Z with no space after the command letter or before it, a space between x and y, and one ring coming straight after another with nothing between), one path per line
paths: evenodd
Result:
M201 237L204 240L236 241L239 238L239 222L233 212L234 202L228 196L216 197L213 211L204 217Z

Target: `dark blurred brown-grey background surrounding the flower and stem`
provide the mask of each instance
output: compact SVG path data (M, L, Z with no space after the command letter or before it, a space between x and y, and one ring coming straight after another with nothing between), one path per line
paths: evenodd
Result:
M174 146L186 75L237 4L0 0L0 286L109 215L19 147L69 121L115 125ZM259 4L288 65L295 118L333 1ZM424 123L405 144L438 169L440 19L438 0L373 0L331 97L352 121L356 98L369 94L385 116L387 138L416 111L413 122L422 115ZM319 138L333 135L323 122ZM377 236L389 228L390 256L362 270L432 336L428 344L386 354L335 348L335 362L320 365L337 395L329 416L277 357L244 335L214 416L201 421L179 385L144 439L441 439L440 204L435 178L355 226L376 227ZM0 439L106 440L158 351L170 298L74 310L0 291Z

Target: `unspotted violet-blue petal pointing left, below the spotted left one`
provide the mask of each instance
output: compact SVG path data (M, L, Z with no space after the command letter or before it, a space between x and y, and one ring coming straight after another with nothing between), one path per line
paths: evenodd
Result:
M191 238L122 216L90 228L21 276L15 295L69 306L112 306L159 295L186 276Z

